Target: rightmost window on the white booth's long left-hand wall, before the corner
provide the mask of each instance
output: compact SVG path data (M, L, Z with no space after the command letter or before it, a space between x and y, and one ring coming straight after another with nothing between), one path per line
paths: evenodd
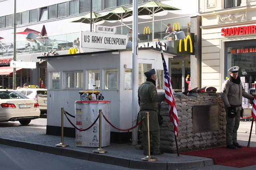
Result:
M105 89L117 89L117 68L105 70Z

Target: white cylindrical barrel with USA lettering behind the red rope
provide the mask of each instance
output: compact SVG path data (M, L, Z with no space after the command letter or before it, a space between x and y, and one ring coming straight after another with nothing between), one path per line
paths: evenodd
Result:
M75 119L78 129L87 129L90 127L99 115L99 109L108 119L110 119L110 101L76 101L75 102ZM86 131L76 129L76 146L77 147L99 147L99 119ZM103 118L101 121L101 147L110 145L110 124Z

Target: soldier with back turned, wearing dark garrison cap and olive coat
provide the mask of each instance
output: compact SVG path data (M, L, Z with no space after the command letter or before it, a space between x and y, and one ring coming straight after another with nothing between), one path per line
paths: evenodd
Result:
M163 154L160 152L160 127L158 124L158 115L156 113L157 102L162 102L165 100L165 94L158 95L156 91L156 71L152 69L148 72L144 72L147 77L146 82L144 82L138 88L138 102L140 105L140 112L138 115L138 120L141 121L143 117L146 117L146 112L149 112L149 130L150 135L152 135L152 154ZM139 126L142 130L142 144L144 155L148 155L148 143L147 143L147 125L146 119Z

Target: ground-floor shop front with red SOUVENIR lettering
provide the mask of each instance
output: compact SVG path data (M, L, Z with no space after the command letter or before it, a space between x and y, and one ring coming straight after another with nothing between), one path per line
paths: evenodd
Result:
M236 14L235 14L236 15ZM234 20L238 20L234 18ZM221 91L229 78L228 69L239 66L239 76L246 92L255 94L256 25L233 22L202 26L202 86L214 86ZM244 116L251 115L252 101L243 98Z

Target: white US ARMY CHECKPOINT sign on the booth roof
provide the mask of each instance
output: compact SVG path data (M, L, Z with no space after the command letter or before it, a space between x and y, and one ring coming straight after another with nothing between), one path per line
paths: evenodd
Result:
M127 35L81 31L81 47L96 49L126 49Z

